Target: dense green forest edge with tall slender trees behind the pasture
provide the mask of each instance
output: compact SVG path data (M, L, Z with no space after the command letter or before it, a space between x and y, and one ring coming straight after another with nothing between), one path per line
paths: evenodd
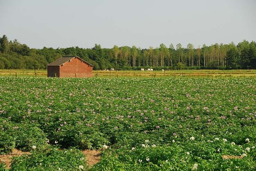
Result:
M0 38L0 69L46 69L47 64L61 56L79 56L93 65L94 70L175 69L256 69L256 42L243 40L235 45L212 44L194 47L189 43L183 48L179 43L166 47L141 49L136 46L101 48L29 48L16 39L9 41L6 35Z

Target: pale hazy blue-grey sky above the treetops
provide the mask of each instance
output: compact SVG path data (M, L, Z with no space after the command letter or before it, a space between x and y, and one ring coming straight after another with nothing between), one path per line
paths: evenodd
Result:
M256 41L256 0L0 0L0 36L31 48Z

